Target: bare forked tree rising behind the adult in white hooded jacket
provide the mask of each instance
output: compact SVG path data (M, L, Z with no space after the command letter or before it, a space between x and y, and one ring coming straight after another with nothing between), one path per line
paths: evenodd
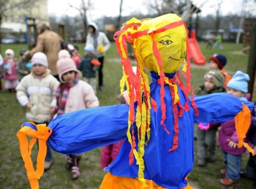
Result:
M79 11L79 14L84 24L84 35L86 36L87 35L87 11L92 9L93 7L92 2L88 0L87 3L85 3L84 0L81 0L80 8L72 6L71 4L69 4L69 6Z

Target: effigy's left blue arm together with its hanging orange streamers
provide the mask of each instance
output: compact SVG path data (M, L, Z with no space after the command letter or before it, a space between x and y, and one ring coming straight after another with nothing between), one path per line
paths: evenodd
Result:
M17 137L31 188L39 188L38 179L44 173L46 141L53 150L62 154L79 154L118 142L126 138L128 111L128 104L120 104L62 114L48 126L23 123ZM27 136L32 138L30 142ZM35 170L30 155L36 139L39 150Z

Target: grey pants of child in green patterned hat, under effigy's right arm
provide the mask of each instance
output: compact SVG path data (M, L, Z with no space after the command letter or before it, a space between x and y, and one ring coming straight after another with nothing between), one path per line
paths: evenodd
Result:
M216 158L217 129L218 127L210 127L208 130L201 130L197 127L197 155L200 159Z

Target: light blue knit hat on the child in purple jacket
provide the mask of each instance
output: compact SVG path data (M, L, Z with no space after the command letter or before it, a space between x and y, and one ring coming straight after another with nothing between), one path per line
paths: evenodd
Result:
M237 71L227 84L227 87L248 93L248 82L250 76L242 71Z

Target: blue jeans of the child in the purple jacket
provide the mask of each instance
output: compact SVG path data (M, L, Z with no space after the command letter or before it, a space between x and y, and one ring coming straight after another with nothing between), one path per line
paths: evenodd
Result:
M226 175L225 177L232 180L240 179L240 171L242 164L242 155L233 155L222 150L224 156L224 164L226 165Z

